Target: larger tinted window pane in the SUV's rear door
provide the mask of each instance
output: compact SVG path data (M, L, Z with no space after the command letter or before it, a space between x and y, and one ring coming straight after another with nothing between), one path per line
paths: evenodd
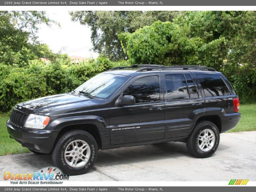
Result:
M184 75L165 75L167 87L167 100L189 98Z

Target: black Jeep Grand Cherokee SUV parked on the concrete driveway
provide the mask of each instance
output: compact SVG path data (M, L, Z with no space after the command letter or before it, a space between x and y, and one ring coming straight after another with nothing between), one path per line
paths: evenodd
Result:
M210 157L220 133L241 118L226 77L205 66L133 65L98 74L71 93L17 104L7 121L11 138L77 175L98 149L186 142L195 157Z

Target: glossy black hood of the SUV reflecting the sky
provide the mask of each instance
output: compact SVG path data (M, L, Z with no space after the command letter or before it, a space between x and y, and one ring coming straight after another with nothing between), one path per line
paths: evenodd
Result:
M18 110L27 113L50 113L52 111L75 112L81 108L91 108L102 103L101 99L90 99L83 95L69 93L41 97L17 104Z

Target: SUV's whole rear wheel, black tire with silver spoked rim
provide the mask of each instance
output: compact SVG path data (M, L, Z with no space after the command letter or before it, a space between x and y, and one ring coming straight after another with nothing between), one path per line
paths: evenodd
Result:
M186 144L193 156L198 158L210 157L219 146L218 127L210 121L197 123Z

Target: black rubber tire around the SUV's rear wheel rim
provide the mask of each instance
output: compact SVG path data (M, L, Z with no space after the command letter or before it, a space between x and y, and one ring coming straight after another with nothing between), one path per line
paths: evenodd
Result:
M199 148L199 142L201 144L201 141L198 141L199 134L202 133L202 131L210 129L213 131L215 135L215 141L212 143L213 147L209 151L203 151ZM206 134L205 134L206 135ZM200 136L201 137L201 136ZM186 145L189 153L195 157L198 158L206 158L210 157L215 153L219 146L219 130L218 127L210 122L210 121L200 121L195 126L195 129L192 131L192 133L189 135ZM209 137L208 137L209 138ZM207 150L207 149L206 149Z

